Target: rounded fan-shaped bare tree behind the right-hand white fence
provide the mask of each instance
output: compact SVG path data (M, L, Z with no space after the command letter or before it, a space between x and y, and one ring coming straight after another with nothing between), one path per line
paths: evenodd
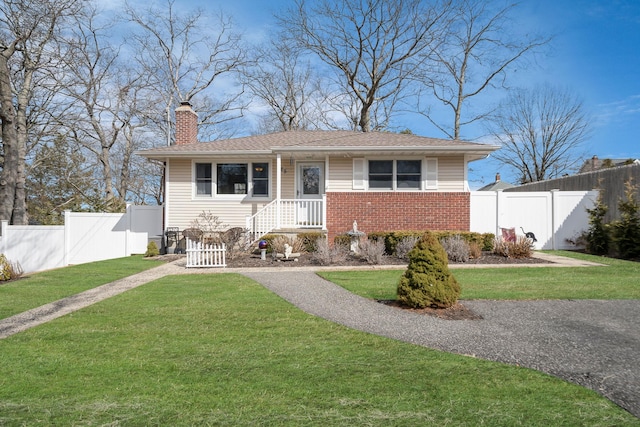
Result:
M514 90L491 118L489 131L502 145L492 157L515 169L524 184L562 175L580 164L582 153L577 150L590 122L575 95L546 85Z

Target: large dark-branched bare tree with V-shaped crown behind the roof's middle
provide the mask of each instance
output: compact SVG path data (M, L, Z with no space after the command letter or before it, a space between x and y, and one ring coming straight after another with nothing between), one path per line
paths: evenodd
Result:
M279 22L335 71L335 89L355 101L357 126L368 132L387 126L420 55L441 40L449 8L448 0L296 0Z

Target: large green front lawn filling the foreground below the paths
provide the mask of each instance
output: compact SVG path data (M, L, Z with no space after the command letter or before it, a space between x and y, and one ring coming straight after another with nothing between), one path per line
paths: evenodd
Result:
M0 425L637 426L595 392L169 276L0 340Z

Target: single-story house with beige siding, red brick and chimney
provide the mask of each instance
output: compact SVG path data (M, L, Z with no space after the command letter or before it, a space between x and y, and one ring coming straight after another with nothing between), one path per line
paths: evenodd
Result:
M469 230L469 162L499 147L411 134L289 131L198 142L198 117L176 109L172 146L141 151L162 161L165 227L202 212L229 227L268 232L352 229Z

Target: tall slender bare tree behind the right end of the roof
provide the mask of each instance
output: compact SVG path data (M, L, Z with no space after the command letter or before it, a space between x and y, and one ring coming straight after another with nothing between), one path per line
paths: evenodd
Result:
M492 5L486 0L458 0L445 42L433 52L432 66L423 68L426 72L418 77L427 89L427 99L434 97L438 105L446 106L453 120L442 124L434 119L431 108L418 106L418 110L453 139L460 139L462 126L491 113L479 109L467 114L470 99L490 88L503 87L507 71L550 40L518 35L511 14L516 4Z

